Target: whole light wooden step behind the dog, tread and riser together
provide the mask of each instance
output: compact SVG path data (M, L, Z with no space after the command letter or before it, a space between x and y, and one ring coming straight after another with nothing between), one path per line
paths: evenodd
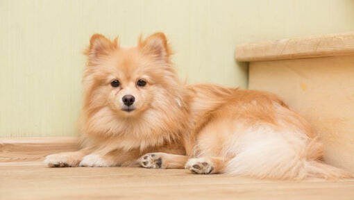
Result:
M354 32L241 44L235 57L249 89L278 94L326 142L326 162L354 172Z

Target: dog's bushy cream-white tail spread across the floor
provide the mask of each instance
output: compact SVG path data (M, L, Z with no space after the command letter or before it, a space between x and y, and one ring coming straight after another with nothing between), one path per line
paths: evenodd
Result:
M267 150L266 150L267 149ZM244 149L228 161L226 173L273 179L353 178L351 174L321 161L321 143L314 140L302 156L287 144L263 141Z

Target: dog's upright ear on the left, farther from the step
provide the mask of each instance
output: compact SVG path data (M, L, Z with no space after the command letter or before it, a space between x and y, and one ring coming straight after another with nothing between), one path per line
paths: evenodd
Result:
M117 38L113 42L108 40L101 34L94 34L90 39L90 46L84 52L85 55L90 57L97 57L100 55L107 55L110 51L117 49Z

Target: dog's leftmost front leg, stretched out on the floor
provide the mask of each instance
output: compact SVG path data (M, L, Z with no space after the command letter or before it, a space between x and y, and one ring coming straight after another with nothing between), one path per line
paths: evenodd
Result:
M78 167L84 156L89 153L85 150L56 153L46 156L44 163L48 167Z

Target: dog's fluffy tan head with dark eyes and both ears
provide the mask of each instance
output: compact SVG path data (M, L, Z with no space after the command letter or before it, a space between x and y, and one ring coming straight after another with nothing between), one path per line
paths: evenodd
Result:
M84 109L89 113L109 110L110 115L134 119L147 110L166 111L171 103L180 103L163 33L140 38L137 47L130 48L95 34L85 54Z

